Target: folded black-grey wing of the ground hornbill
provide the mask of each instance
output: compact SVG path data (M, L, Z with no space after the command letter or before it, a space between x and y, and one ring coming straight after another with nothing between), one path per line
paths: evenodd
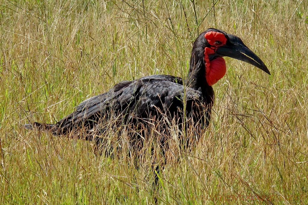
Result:
M57 130L65 132L82 123L95 124L99 120L130 120L147 118L177 107L183 101L198 99L200 92L184 88L182 79L168 75L153 75L134 81L121 81L108 92L91 97L80 103L76 110L57 123Z

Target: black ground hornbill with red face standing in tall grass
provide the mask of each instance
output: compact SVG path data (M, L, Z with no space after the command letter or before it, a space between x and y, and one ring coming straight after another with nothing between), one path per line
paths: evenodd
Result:
M153 123L160 124L166 117L182 125L183 118L189 118L193 124L205 127L214 102L212 85L226 73L224 56L248 62L270 74L261 59L239 37L210 28L193 44L190 70L185 80L171 75L151 75L121 81L108 92L83 101L56 124L34 122L26 124L25 128L68 135L80 128L90 132L98 124L114 120L115 124L130 124L136 131ZM100 142L103 132L102 128L94 137L86 134L79 139Z

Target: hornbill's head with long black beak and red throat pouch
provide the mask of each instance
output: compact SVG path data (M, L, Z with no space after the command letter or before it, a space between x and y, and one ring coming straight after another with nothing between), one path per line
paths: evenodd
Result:
M193 46L191 65L195 65L197 58L204 59L205 78L211 86L226 73L225 60L222 58L224 56L245 61L270 74L261 59L239 37L213 28L197 37Z

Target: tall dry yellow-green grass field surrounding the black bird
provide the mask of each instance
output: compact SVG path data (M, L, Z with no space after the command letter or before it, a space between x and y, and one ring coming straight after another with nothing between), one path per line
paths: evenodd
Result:
M308 204L307 11L304 0L0 1L0 204ZM166 165L160 191L125 157L22 127L122 80L185 77L210 27L241 37L271 75L225 58L210 126Z

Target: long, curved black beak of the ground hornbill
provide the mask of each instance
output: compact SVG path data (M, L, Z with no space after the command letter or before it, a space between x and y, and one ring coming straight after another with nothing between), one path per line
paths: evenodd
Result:
M263 63L263 61L261 61L261 59L255 53L253 53L243 43L243 41L241 41L241 39L239 37L237 37L237 38L238 39L236 39L237 41L235 43L233 43L231 41L231 43L227 42L226 45L218 47L216 49L216 53L218 55L227 56L227 57L235 58L235 59L238 59L238 60L241 60L241 61L245 61L247 63L250 63L251 65L258 67L259 69L263 70L265 73L270 74L269 69L266 67L266 65ZM235 39L233 39L233 41L234 40Z

